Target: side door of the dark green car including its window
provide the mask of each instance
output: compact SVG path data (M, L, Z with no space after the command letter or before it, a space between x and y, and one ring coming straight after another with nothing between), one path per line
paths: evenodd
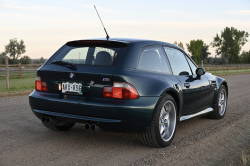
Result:
M172 68L173 75L180 81L182 88L183 110L182 115L188 115L205 109L209 105L210 86L205 76L197 78L196 66L183 52L170 47L164 47Z

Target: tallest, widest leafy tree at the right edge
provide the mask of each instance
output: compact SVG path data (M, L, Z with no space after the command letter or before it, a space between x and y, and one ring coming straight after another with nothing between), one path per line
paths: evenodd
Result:
M234 27L226 27L221 31L221 35L216 34L213 42L211 43L217 55L224 53L225 58L228 59L229 63L239 62L239 53L242 46L248 41L249 34L245 31L237 30Z

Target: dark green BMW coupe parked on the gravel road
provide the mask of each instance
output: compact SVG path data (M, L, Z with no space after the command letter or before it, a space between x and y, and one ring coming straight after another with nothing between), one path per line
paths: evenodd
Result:
M228 85L180 47L161 41L98 38L67 42L37 70L31 110L55 131L138 132L168 146L177 123L225 116Z

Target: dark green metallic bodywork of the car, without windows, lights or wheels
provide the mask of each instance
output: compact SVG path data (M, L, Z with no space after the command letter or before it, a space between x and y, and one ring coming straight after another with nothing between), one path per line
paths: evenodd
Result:
M208 107L214 108L219 87L221 84L227 87L223 78L209 73L197 79L196 75L174 76L137 69L138 59L144 47L157 45L181 50L177 46L140 39L113 39L113 41L128 45L116 67L77 65L77 68L73 69L51 64L50 59L39 68L37 75L47 83L49 92L34 90L30 94L30 106L35 115L40 119L43 115L48 115L57 119L67 118L71 122L96 123L101 127L112 128L119 124L132 130L145 130L151 124L157 104L166 93L171 94L176 100L177 120L179 120L183 115L197 113ZM53 56L60 51L61 49ZM89 93L84 93L82 96L64 95L55 88L61 80L69 79L71 72L75 74L75 80L82 81L90 87ZM102 81L103 78L109 78L110 81ZM91 81L94 85L90 86ZM132 84L138 91L139 98L133 100L102 98L103 87L112 86L113 81ZM212 85L211 81L215 81L216 85ZM184 86L184 83L189 83L190 87Z

